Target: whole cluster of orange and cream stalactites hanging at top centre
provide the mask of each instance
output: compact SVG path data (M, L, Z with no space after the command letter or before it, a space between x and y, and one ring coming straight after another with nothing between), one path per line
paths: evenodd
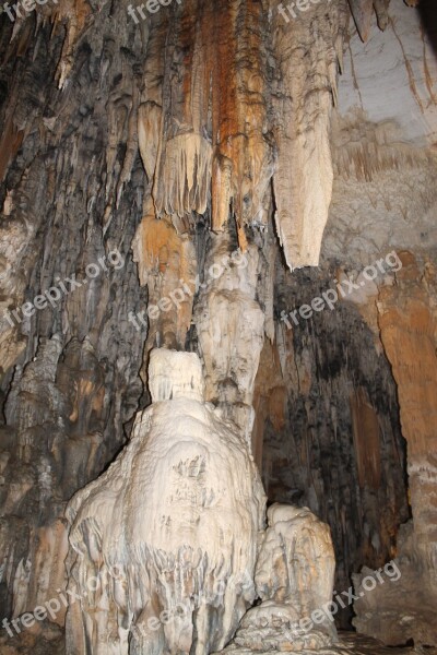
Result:
M274 196L288 266L317 265L332 192L329 128L346 0L330 5L329 21L320 3L288 24L270 0L236 0L225 10L185 0L177 11L172 38L164 21L154 25L139 110L156 216L177 225L210 204L211 228L227 230L235 217L246 250L248 228L268 227ZM178 75L158 91L156 72L169 63Z

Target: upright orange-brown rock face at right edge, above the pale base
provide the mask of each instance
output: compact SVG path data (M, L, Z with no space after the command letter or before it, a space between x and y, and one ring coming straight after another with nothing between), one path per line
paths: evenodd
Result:
M398 383L417 548L423 563L432 567L437 555L436 264L426 261L421 270L411 253L401 259L397 286L385 289L378 302L379 325Z

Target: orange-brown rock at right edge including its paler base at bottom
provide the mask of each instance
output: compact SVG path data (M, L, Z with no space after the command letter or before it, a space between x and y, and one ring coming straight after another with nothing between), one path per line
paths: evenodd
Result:
M435 645L436 557L436 426L437 322L434 262L417 264L411 252L400 254L398 284L378 300L381 340L398 383L402 432L408 441L408 471L412 525L398 544L402 574L394 590L381 587L356 605L358 630L399 644ZM356 583L361 580L357 577ZM401 600L402 598L402 600Z

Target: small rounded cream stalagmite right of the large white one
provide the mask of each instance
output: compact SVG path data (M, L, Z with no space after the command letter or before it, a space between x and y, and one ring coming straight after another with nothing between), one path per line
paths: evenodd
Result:
M329 526L307 508L274 503L268 511L256 568L261 605L241 621L229 651L319 650L336 642L329 612L335 559Z

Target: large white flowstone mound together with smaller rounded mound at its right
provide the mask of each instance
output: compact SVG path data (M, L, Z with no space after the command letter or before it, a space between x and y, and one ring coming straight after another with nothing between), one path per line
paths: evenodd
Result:
M67 654L205 655L238 627L231 650L331 645L329 527L274 504L263 531L245 431L204 402L196 354L153 350L149 378L129 445L67 510Z

